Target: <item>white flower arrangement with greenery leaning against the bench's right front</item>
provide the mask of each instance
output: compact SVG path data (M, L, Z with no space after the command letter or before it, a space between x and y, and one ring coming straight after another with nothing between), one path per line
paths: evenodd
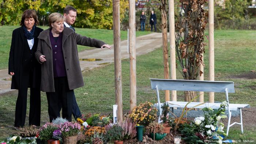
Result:
M223 131L224 124L219 121L227 117L225 106L227 106L226 101L221 103L219 109L203 108L203 117L196 117L190 124L183 125L181 132L186 135L184 140L194 143L214 140L215 143L222 143L226 133Z

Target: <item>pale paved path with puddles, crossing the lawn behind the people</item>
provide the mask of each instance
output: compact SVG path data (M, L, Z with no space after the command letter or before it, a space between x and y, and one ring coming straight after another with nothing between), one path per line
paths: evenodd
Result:
M146 54L162 46L162 33L151 33L136 38L136 55ZM100 61L80 61L82 71L101 67L114 62L114 46L112 49L92 49L79 52L80 59L97 58ZM127 40L121 41L121 58L129 58L127 53ZM11 76L7 74L8 69L0 70L0 94L11 91Z

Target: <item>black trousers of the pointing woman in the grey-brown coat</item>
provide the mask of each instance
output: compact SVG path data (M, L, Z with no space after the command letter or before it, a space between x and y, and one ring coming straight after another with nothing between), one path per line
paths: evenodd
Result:
M67 77L54 77L55 92L46 92L50 122L60 116L72 120L74 90L69 90Z

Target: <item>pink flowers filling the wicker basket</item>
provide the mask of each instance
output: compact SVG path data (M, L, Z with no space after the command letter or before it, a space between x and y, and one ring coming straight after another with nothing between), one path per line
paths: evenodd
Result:
M78 135L80 129L81 125L77 122L65 122L59 126L62 137L76 136Z

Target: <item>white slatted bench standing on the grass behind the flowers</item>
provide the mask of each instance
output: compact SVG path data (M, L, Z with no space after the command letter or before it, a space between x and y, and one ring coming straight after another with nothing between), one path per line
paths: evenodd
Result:
M172 80L172 79L150 79L151 88L157 91L158 106L161 106L159 98L159 90L176 90L176 91L204 91L204 92L225 92L226 101L229 113L229 120L227 123L227 135L229 134L230 126L234 124L241 125L241 132L243 132L243 123L242 123L242 108L249 108L250 105L247 104L232 104L229 103L228 93L234 93L234 82L220 82L220 81L200 81L200 80ZM184 108L188 102L176 102L176 101L167 101L169 106L172 107L181 107ZM218 109L221 103L204 103L203 105L196 106L201 102L191 102L187 105L187 108L196 108L203 109L204 107L211 107L212 109ZM196 106L196 107L195 107ZM232 111L240 111L240 122L234 122L230 124ZM159 109L160 116L158 122L160 123L160 117L162 114L162 109Z

